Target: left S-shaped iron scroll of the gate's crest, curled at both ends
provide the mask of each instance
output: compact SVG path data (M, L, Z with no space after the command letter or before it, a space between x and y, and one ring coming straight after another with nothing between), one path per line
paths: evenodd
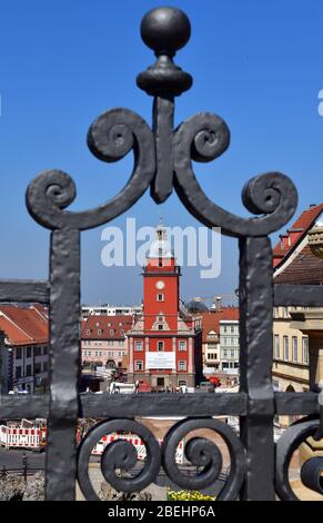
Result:
M42 172L27 191L31 216L50 229L87 230L107 224L128 210L144 194L155 171L153 135L144 120L128 109L112 109L90 127L88 146L102 161L122 159L131 150L134 168L124 188L110 201L91 210L70 213L65 209L75 198L72 178L61 170Z

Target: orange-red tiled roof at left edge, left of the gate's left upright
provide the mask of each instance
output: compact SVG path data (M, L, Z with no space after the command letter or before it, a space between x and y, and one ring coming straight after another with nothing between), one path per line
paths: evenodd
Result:
M0 306L0 329L11 345L43 344L48 342L48 320L26 307Z

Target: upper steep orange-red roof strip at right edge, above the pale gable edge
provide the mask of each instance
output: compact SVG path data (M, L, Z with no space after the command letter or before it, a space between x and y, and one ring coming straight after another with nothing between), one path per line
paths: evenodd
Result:
M323 204L310 207L310 209L303 210L301 216L292 225L287 234L281 235L281 241L279 241L273 248L273 266L276 267L283 258L293 249L301 238L312 227L315 219L323 211ZM284 241L285 238L285 241ZM283 244L283 245L282 245Z

